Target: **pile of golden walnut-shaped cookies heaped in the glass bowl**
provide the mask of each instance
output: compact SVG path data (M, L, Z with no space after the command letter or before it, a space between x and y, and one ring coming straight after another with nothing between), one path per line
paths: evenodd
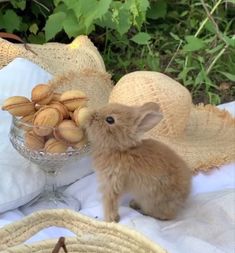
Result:
M31 100L13 96L5 100L2 110L19 117L25 145L37 151L63 153L69 147L80 149L87 143L81 123L88 112L88 97L81 90L61 94L50 85L38 84Z

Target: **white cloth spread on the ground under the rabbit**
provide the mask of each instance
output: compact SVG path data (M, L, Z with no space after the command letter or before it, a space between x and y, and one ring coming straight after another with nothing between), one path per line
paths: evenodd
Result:
M234 249L235 164L223 166L210 175L199 174L193 179L190 199L179 217L159 221L143 216L128 207L129 198L120 203L120 223L141 232L169 253L232 253ZM89 175L66 189L82 203L81 213L103 219L101 195L96 175ZM19 220L19 210L0 215L0 226ZM44 229L28 242L41 241L73 233L51 227Z

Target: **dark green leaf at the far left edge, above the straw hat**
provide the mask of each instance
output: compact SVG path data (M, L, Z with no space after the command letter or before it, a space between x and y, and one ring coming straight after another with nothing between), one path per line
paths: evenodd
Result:
M19 17L13 10L6 10L5 14L0 16L0 28L6 29L12 33L15 30L19 31L22 18Z

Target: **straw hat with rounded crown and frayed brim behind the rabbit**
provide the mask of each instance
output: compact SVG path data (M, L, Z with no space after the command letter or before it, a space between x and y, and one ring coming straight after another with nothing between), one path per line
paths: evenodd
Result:
M151 71L127 74L109 98L126 105L150 101L160 105L164 118L147 137L169 145L194 172L235 161L235 118L212 105L193 105L189 91L170 77Z

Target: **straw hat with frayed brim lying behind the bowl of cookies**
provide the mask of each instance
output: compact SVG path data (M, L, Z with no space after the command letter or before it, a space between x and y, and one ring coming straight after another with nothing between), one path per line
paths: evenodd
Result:
M15 37L6 35L11 36ZM0 38L0 69L17 57L28 59L52 74L53 79L48 84L55 92L80 89L86 93L90 108L108 103L113 87L111 75L106 72L102 56L87 36L80 35L70 44L49 42L27 46Z

